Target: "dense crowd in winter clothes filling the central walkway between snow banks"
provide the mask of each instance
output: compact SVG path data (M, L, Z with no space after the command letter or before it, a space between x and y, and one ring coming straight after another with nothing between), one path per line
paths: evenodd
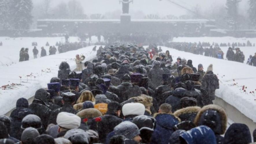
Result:
M76 59L85 69L71 71L61 62L58 77L38 89L31 104L20 98L10 117L0 116L0 143L252 142L245 124L226 130L226 112L213 104L219 80L212 64L204 71L155 45L111 45L100 47L92 62Z

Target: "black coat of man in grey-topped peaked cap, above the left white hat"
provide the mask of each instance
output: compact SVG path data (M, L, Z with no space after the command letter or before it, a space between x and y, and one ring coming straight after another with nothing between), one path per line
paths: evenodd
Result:
M49 119L48 124L51 124L51 123L57 124L56 119L60 112L69 112L72 114L76 114L78 111L75 110L72 105L64 103L61 108L58 108L51 112L51 115L48 117L48 119Z

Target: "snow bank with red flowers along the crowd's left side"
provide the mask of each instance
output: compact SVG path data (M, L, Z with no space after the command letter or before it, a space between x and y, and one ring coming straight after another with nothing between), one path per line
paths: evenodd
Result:
M11 88L0 89L0 115L15 108L17 99L21 97L29 99L37 89L47 87L50 79L57 77L60 62L67 61L72 70L76 68L74 60L76 54L83 54L85 56L84 62L95 58L96 51L92 51L93 47L90 46L58 55L18 62L9 66L0 66L0 86L15 84ZM31 77L27 77L30 74L32 74ZM21 79L19 76L21 76Z

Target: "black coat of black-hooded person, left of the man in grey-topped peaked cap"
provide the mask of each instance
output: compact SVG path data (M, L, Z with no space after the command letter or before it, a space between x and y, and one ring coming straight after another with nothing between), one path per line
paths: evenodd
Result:
M34 99L32 104L29 105L29 108L33 111L34 115L40 117L44 128L47 128L48 120L51 115L51 109L47 107L39 99Z

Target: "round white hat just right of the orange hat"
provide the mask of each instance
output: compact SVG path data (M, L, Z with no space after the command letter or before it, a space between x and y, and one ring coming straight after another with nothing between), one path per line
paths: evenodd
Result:
M124 116L127 115L144 115L145 106L140 103L128 103L125 104L122 108L122 112Z

